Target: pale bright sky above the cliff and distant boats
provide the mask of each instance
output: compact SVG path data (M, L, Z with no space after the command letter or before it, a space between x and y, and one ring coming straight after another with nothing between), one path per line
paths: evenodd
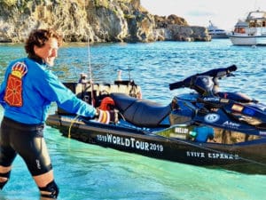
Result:
M189 25L207 27L211 20L219 28L231 30L248 12L266 11L266 0L140 0L151 13L176 14Z

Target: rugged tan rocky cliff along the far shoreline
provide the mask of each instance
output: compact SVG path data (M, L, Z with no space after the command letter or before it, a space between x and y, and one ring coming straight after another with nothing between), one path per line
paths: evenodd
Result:
M0 0L0 42L24 42L34 28L56 28L66 42L210 40L206 28L152 15L140 0Z

